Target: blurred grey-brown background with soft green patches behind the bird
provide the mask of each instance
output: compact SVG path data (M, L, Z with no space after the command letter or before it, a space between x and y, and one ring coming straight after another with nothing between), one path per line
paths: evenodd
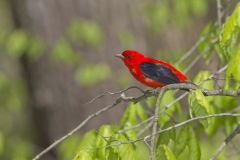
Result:
M236 2L223 2L226 15ZM115 54L134 49L174 64L216 20L215 0L0 0L0 159L30 159L114 100L86 105L93 97L143 87ZM214 55L195 60L191 78L219 65ZM124 109L79 133L117 122ZM45 158L63 159L56 150Z

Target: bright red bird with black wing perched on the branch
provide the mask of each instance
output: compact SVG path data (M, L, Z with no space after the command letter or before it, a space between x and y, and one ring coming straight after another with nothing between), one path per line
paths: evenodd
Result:
M173 83L184 83L190 80L171 64L145 57L143 54L126 50L116 57L121 58L132 75L141 83L152 88L163 87Z

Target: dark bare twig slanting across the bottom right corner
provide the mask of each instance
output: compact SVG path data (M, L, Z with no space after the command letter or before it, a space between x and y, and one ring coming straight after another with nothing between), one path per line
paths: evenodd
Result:
M218 150L210 158L210 160L215 160L219 156L219 154L223 151L223 149L226 147L226 145L239 133L240 133L240 124L238 124L235 130L224 140L224 142L221 144Z

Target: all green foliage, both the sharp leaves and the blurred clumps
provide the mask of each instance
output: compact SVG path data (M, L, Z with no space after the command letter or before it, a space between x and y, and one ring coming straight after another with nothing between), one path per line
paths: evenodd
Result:
M192 19L204 17L208 3L206 0L147 2L144 4L144 22L154 36L158 36L169 26L186 28L193 22ZM216 23L209 23L204 27L201 33L202 38L197 46L198 51L206 63L216 52L222 64L228 64L228 69L224 82L207 80L211 75L210 71L199 71L194 78L194 83L199 84L201 89L216 89L219 86L222 87L223 83L225 83L225 89L239 88L239 32L240 3L236 5L222 27ZM128 29L121 30L115 36L124 48L133 47L136 40L135 35ZM51 48L50 58L58 65L73 66L74 78L82 87L95 87L113 75L111 67L105 63L93 64L84 61L82 51L85 49L101 50L104 38L103 28L99 23L86 19L74 20L64 35L56 40ZM32 35L23 29L13 29L11 32L9 29L2 31L0 47L1 56L8 56L15 60L19 60L22 56L28 56L30 60L39 60L43 52L48 49L42 37ZM76 51L77 49L80 51ZM174 53L175 56L176 52ZM120 75L116 81L126 87L129 78L126 75ZM0 95L0 159L30 159L34 149L30 142L31 136L26 134L25 130L18 128L30 126L24 114L28 97L24 80L19 78L19 75L15 75L15 72L14 75L7 75L1 71ZM239 99L237 98L206 97L198 89L190 92L188 102L172 103L176 100L176 95L178 94L172 91L165 93L160 106L156 106L156 97L150 97L143 103L130 103L119 122L104 124L99 129L88 131L84 136L74 135L64 141L58 148L59 157L62 160L147 160L149 146L142 139L152 133L152 126L149 124L152 122L150 118L155 107L160 108L159 131L192 117L239 112L237 108ZM12 126L13 122L19 121L19 117L24 119L23 124L17 123ZM238 123L239 118L236 117L218 117L184 124L179 128L173 127L157 134L154 156L156 160L207 159L215 151L211 144L212 141L215 143L220 139L223 141L223 137L229 135ZM226 135L217 132L220 128L223 128ZM214 147L217 148L217 145L214 144ZM226 153L222 154L223 157L225 155Z

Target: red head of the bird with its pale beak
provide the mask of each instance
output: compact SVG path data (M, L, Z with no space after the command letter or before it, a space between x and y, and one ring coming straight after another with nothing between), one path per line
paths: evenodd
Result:
M133 64L140 62L144 55L134 50L126 50L122 54L117 54L116 57L122 59L125 64Z

